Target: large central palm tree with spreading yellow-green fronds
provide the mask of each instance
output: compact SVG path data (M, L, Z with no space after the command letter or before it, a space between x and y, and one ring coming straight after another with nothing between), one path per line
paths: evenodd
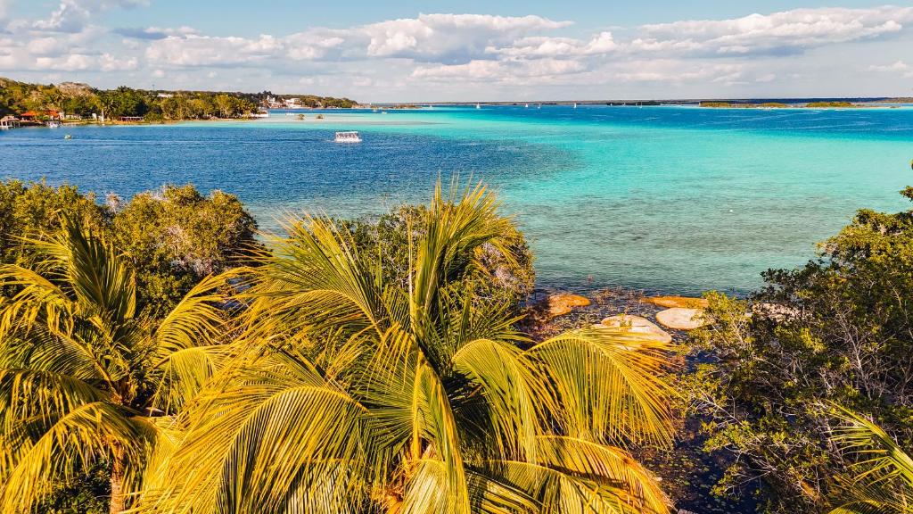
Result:
M507 255L509 220L484 187L450 198L438 186L410 228L405 287L331 220L289 224L140 510L667 512L624 447L671 439L670 348L624 329L517 332L466 281L483 250Z

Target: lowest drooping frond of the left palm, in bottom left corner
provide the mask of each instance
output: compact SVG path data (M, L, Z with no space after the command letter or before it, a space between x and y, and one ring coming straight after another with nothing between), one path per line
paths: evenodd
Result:
M32 509L55 486L74 480L74 470L107 458L114 445L131 463L141 462L148 449L129 414L107 402L79 405L49 425L32 424L4 434L4 454L12 462L0 480L3 514Z

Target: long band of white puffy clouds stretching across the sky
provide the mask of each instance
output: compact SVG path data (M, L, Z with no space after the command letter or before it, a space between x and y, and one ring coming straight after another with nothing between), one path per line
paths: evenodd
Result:
M0 0L0 19L9 2ZM105 71L110 75L104 77L167 78L175 85L192 77L200 85L217 69L224 83L249 81L257 89L273 86L250 77L283 77L293 87L312 85L328 93L341 92L333 91L341 84L412 91L464 83L477 91L487 84L503 86L498 91L565 85L567 91L585 86L600 93L615 84L770 88L796 80L800 70L806 78L822 76L828 63L839 61L841 45L863 55L861 45L869 41L908 41L905 29L913 25L913 7L903 6L793 9L612 31L575 31L570 21L542 16L473 14L421 14L247 37L215 36L193 27L93 24L106 9L143 3L57 0L40 19L0 23L0 71ZM872 55L888 62L901 57ZM820 66L805 69L813 56L823 59L815 60ZM913 76L902 60L854 59L852 66L856 72ZM310 81L299 81L302 76Z

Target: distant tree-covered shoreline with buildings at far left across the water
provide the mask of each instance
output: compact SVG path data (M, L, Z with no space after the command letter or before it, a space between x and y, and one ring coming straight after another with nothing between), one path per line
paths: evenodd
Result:
M115 90L99 90L87 84L63 82L30 84L0 78L0 116L21 116L36 112L39 117L49 112L64 112L68 116L91 117L101 114L115 120L120 117L139 117L145 121L194 120L208 118L239 118L257 112L270 96L259 93L225 91L149 91L121 86ZM297 96L306 105L351 107L349 99L319 96Z

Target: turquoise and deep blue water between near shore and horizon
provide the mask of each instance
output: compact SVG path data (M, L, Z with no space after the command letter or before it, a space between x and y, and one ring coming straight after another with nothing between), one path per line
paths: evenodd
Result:
M425 201L437 177L495 187L548 287L745 292L814 256L855 209L906 209L913 109L522 106L274 112L238 123L0 133L0 176L130 196L193 182L259 220ZM332 143L358 130L360 145ZM73 139L63 140L63 134Z

